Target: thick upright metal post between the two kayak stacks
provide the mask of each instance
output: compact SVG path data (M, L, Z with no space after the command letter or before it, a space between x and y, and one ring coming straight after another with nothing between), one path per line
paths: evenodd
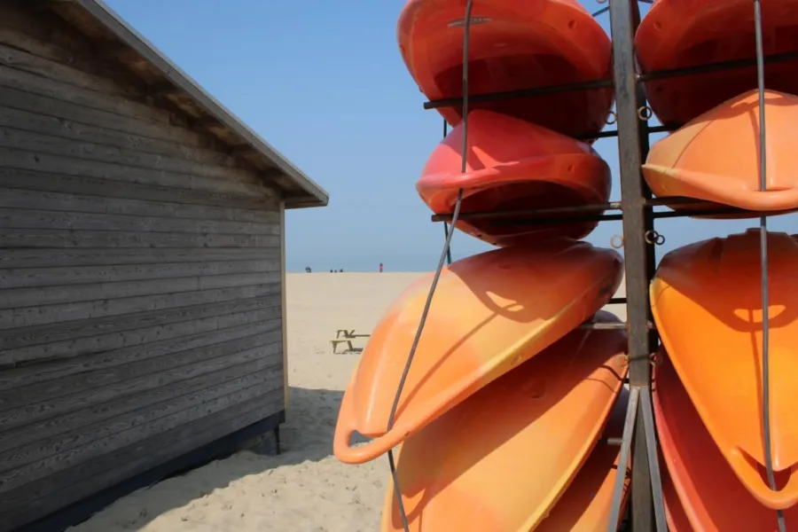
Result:
M613 35L615 113L618 123L618 155L621 169L621 202L626 266L626 298L629 319L629 379L631 387L650 393L651 338L648 331L649 249L645 243L645 186L640 174L640 120L638 80L634 59L634 12L637 0L610 0ZM648 211L646 213L646 210ZM632 455L631 524L635 532L653 530L651 474L645 442L644 416L635 424Z

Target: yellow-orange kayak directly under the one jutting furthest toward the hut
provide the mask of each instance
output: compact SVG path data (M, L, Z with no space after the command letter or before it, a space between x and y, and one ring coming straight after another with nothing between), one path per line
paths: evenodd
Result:
M608 313L599 320L618 321ZM599 489L607 477L612 483L619 448L597 447L606 452L581 479L586 483L571 481L596 446L622 389L626 341L622 331L571 332L412 435L396 465L410 529L526 532L543 521L559 532L606 530L612 487L595 507L589 489ZM624 393L614 409L613 436L622 434L627 398ZM571 497L564 495L572 489ZM558 503L560 496L564 500ZM591 528L564 528L583 517L569 509L606 518ZM401 530L391 482L382 531Z

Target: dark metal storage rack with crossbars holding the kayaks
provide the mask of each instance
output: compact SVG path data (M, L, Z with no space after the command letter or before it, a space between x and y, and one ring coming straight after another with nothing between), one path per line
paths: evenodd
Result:
M757 66L758 87L760 103L763 103L763 68L764 62L780 62L798 59L798 51L781 53L768 57L763 56L762 44L762 17L761 0L751 0L751 9L755 14L755 35L756 35L756 56L745 60L728 61L712 65L696 66L690 68L680 68L669 71L661 71L648 74L639 74L637 71L634 56L634 35L640 23L640 11L638 1L650 4L651 0L597 0L600 4L608 2L606 7L593 13L594 16L609 12L611 35L613 40L613 79L597 80L592 82L575 83L568 85L538 87L528 90L513 90L496 94L468 95L467 89L467 67L464 68L464 95L465 98L446 98L436 101L426 102L425 109L434 109L442 106L464 106L464 116L467 117L468 102L485 102L503 98L520 98L541 94L552 94L559 91L568 90L596 90L606 87L614 87L615 91L615 114L616 128L610 131L602 131L598 135L584 136L583 138L597 137L617 137L618 153L620 164L620 180L622 200L599 205L583 207L554 207L536 210L523 210L503 213L463 213L455 209L452 215L433 215L433 222L444 222L444 234L446 244L441 258L444 257L451 262L450 238L451 231L447 222L453 218L474 219L478 217L508 217L513 215L525 215L532 217L530 223L567 223L587 220L621 220L623 226L623 249L626 270L626 298L614 299L610 302L625 302L627 305L628 321L622 326L629 332L629 374L630 385L630 406L627 411L626 424L624 426L621 445L621 464L627 465L630 456L633 459L631 465L630 478L630 523L628 529L634 532L646 532L657 530L663 532L667 530L665 524L664 503L662 500L661 476L659 461L657 459L657 439L653 419L653 409L651 403L651 384L652 384L652 363L653 356L659 347L659 337L653 326L653 317L649 305L648 287L655 271L654 247L661 243L661 237L654 231L654 220L657 218L670 218L682 216L704 215L709 212L714 214L732 214L744 212L734 207L713 206L707 202L691 200L687 198L658 198L653 199L651 191L648 189L641 174L641 165L648 154L649 135L652 133L669 131L672 128L666 126L649 127L647 119L650 111L645 103L645 92L643 82L654 79L716 72L725 69ZM472 0L468 0L465 9L465 33L467 35L471 20ZM467 58L467 36L465 39L465 54ZM467 64L467 63L466 63ZM465 105L464 105L465 100ZM761 111L760 129L762 130L761 145L764 146L764 109ZM446 123L443 126L444 136L446 135ZM464 140L465 145L465 140ZM465 150L465 146L464 146ZM766 154L761 156L761 186L766 186ZM464 162L465 165L465 162ZM465 171L465 167L464 167ZM459 206L459 204L458 204ZM681 207L677 211L654 211L654 207ZM620 213L604 214L605 211L620 211ZM767 409L768 403L768 278L767 278L767 230L766 216L760 216L760 227L763 234L762 250L762 286L763 286L763 403ZM434 285L430 293L434 292ZM429 302L429 301L427 301ZM424 318L419 327L423 329ZM590 324L583 326L590 327ZM408 360L408 367L411 364L412 353ZM396 399L401 394L401 386L397 391ZM770 427L765 421L764 434L769 439ZM766 440L767 441L767 440ZM610 442L612 444L613 442ZM766 467L771 488L774 486L772 478L773 471L770 459L770 447L766 445ZM391 460L393 469L393 460ZM620 512L620 496L624 477L619 475L614 492L614 515L609 522L617 522L614 518ZM785 530L783 517L778 513L778 524L780 530ZM609 526L608 530L614 527Z

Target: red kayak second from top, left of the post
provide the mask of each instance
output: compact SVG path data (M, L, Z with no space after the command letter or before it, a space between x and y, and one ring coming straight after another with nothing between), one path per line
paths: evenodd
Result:
M489 111L469 114L468 140L465 174L460 124L435 149L416 184L435 214L454 211L460 188L461 213L575 207L609 200L610 168L583 142ZM597 221L543 225L532 220L531 215L474 218L458 221L457 228L495 246L512 246L519 239L583 239L598 225Z

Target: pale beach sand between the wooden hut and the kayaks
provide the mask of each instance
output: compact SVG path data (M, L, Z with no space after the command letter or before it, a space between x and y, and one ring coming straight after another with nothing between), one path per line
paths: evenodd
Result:
M69 530L379 530L389 481L387 458L344 465L332 456L341 395L358 354L332 354L329 339L339 328L370 332L387 305L419 275L289 275L290 398L287 422L281 428L283 454L239 452L122 497ZM623 308L613 307L610 310L625 318Z

